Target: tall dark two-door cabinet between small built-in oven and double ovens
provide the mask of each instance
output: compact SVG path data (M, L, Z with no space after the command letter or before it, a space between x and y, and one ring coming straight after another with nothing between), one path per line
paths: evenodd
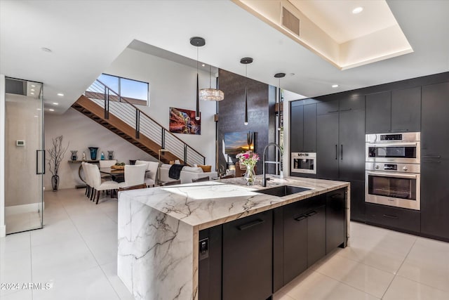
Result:
M365 217L365 96L317 104L316 176L351 183L351 219Z

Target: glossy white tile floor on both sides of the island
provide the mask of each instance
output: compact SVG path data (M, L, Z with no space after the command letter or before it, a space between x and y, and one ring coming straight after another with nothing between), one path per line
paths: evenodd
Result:
M83 190L46 192L45 228L0 239L1 300L132 299L116 275L117 202L95 205ZM24 289L28 282L50 289ZM449 299L449 243L351 223L337 249L275 300ZM237 299L239 300L239 299Z

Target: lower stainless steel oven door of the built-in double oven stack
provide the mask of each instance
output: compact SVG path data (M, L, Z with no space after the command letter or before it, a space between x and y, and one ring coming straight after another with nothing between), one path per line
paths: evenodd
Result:
M366 171L365 202L420 210L420 174Z

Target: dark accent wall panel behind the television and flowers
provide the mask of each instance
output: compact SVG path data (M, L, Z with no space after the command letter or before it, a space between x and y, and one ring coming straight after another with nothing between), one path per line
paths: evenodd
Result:
M262 174L262 154L268 143L276 138L276 88L243 77L239 74L218 71L220 89L225 93L225 99L218 103L218 164L227 167L223 153L223 138L226 132L255 132L255 152L260 155L257 163L257 174ZM243 124L245 114L245 86L248 89L248 125ZM274 148L269 149L269 160L274 159ZM233 158L233 162L235 158ZM273 173L274 166L267 164L267 173Z

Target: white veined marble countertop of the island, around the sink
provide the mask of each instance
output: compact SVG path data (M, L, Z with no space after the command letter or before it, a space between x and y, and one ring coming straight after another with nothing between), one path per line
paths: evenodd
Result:
M119 198L140 202L192 226L194 230L202 230L349 186L349 183L342 181L290 176L284 176L281 179L274 175L269 175L269 177L271 180L267 181L267 188L295 185L311 190L284 197L256 193L257 190L264 189L261 184L262 176L257 176L255 185L251 186L246 186L246 181L243 178L230 178L220 181L129 190L121 192Z

